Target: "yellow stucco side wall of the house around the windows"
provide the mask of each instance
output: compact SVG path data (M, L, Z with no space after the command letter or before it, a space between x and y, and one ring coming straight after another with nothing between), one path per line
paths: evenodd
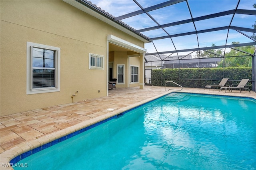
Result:
M72 103L71 95L76 91L74 102L106 96L107 35L144 46L142 41L63 1L1 0L0 9L1 116ZM60 91L26 94L27 42L60 48ZM104 70L89 69L89 53L104 55ZM125 55L115 59L115 69L116 61L123 60L127 60Z

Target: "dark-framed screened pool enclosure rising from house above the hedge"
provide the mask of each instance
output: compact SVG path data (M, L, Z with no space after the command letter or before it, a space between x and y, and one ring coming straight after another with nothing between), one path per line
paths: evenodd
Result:
M202 88L204 83L222 78L229 78L230 84L236 84L241 78L250 78L250 88L256 89L254 0L77 2L104 16L105 22L122 26L145 40L146 85L154 85L154 70L161 70L157 79L162 85L168 79L163 77L164 70L174 69L176 75L173 79L177 83L194 80L197 81L196 86ZM228 70L231 67L236 69ZM246 70L245 74L242 68ZM196 72L196 76L184 77L184 69L198 70L188 71L189 74ZM207 69L222 70L222 73L217 77L207 77ZM240 77L237 74L241 74Z

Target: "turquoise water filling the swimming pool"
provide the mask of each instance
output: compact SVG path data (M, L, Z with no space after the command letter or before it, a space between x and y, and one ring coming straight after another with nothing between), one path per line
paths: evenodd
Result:
M18 164L26 170L256 169L255 108L248 98L171 93Z

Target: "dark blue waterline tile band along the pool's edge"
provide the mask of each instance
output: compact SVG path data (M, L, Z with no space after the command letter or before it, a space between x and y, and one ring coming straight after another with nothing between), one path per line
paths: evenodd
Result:
M42 146L39 146L39 147L37 147L37 148L34 148L34 149L29 150L29 151L27 151L27 152L24 152L24 153L22 153L22 154L20 154L20 155L18 155L18 156L16 156L16 157L14 157L14 158L12 158L12 159L10 160L10 165L11 165L11 166L12 166L12 165L15 165L15 164L18 163L20 160L22 160L22 159L24 159L24 158L26 158L26 157L28 157L28 156L34 154L34 153L37 153L37 152L39 152L39 151L41 151L41 150L44 150L44 149L46 149L46 148L48 148L48 147L50 147L50 146L53 146L54 144L57 144L57 143L59 143L59 142L62 142L62 141L64 141L64 140L68 139L68 138L71 138L71 137L73 137L73 136L76 136L77 134L80 134L80 133L82 133L82 132L85 132L86 130L89 130L89 129L91 129L91 128L97 127L98 125L101 125L102 123L106 123L106 122L108 122L108 121L110 121L110 120L112 120L112 119L118 119L119 117L122 117L122 116L125 115L126 113L128 113L128 112L130 112L130 111L132 111L132 110L134 110L134 109L137 109L138 107L142 107L143 105L146 105L146 104L148 104L148 103L154 102L154 101L156 101L157 99L160 99L161 97L164 97L164 96L166 96L166 95L170 95L171 93L184 93L184 94L191 94L191 95L203 95L203 96L216 96L216 97L231 97L231 98L240 98L240 99L250 99L250 100L253 100L253 101L256 102L256 99L254 99L254 98L252 98L252 97L240 97L240 96L204 94L204 93L189 93L189 92L170 92L170 93L161 95L160 97L156 97L155 99L152 99L152 100L150 100L150 101L146 101L145 103L142 103L141 105L138 105L138 106L135 106L135 107L133 107L133 108L131 108L131 109L128 109L128 110L126 110L126 111L123 111L122 113L118 113L117 115L114 115L114 116L112 116L112 117L109 117L109 118L107 118L107 119L105 119L105 120L102 120L102 121L99 121L99 122L97 122L97 123L94 123L93 125L90 125L90 126L88 126L88 127L82 128L82 129L80 129L80 130L77 130L77 131L72 132L72 133L70 133L70 134L67 134L67 135L65 135L65 136L62 136L62 137L60 137L60 138L58 138L58 139L56 139L56 140L53 140L53 141L48 142L48 143L46 143L46 144L43 144Z

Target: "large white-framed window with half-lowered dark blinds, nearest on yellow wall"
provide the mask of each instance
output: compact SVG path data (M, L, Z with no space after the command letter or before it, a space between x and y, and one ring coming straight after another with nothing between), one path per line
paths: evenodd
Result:
M60 48L27 42L27 94L60 91Z

